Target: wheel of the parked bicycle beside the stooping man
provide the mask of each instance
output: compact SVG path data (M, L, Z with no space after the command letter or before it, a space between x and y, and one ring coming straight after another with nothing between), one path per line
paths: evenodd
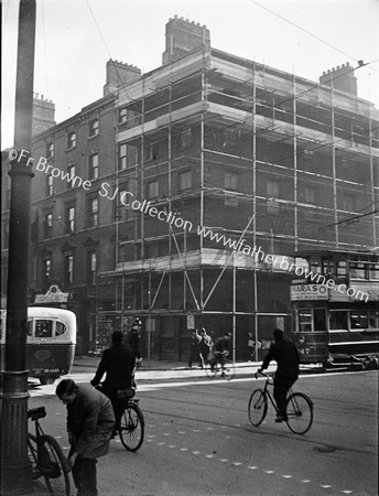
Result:
M45 478L51 495L69 496L69 476L66 456L58 442L51 435L41 435L37 441L37 466Z

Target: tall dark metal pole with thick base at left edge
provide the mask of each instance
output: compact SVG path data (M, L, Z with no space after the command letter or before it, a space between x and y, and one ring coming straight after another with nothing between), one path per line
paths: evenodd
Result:
M1 371L1 489L30 494L28 456L28 270L32 149L35 0L20 0L15 86L14 152L11 161L11 205L7 292L6 359ZM25 153L28 151L29 153ZM17 157L15 157L17 155ZM14 158L15 157L15 158Z

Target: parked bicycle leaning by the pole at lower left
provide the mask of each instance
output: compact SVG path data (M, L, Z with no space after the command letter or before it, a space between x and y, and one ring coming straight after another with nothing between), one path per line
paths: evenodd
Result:
M35 422L35 434L29 433L28 454L32 462L33 481L44 477L51 495L71 495L69 476L58 442L43 432L39 419L46 417L45 407L28 411L28 419Z

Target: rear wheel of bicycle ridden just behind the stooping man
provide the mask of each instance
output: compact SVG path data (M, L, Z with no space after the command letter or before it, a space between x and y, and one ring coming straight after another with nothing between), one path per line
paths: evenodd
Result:
M123 448L128 451L137 451L144 435L144 419L140 407L129 403L121 416L119 435Z

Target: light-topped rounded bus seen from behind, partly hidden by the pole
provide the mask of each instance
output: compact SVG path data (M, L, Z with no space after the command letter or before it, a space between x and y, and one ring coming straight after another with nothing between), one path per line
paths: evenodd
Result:
M1 311L1 364L6 354L7 311ZM54 384L71 371L76 345L76 315L69 310L29 306L26 368L42 385Z

